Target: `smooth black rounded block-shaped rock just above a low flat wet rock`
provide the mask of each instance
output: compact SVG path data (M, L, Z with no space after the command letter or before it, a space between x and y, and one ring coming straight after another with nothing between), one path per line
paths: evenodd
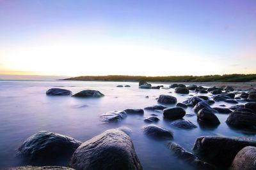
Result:
M166 108L163 110L164 118L176 119L182 118L186 115L186 111L183 108Z

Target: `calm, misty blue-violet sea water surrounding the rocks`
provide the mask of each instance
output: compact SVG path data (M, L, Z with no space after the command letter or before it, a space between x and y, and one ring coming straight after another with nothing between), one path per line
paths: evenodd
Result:
M116 87L131 85L131 87ZM164 85L168 87L168 85ZM100 99L81 99L70 96L46 96L45 92L53 87L72 90L73 94L85 89L99 90L104 97ZM172 93L170 93L172 92ZM100 122L100 115L107 111L127 108L145 108L157 104L156 97L169 94L177 97L178 102L186 100L188 95L175 94L173 89L138 89L138 83L100 82L100 81L0 81L0 168L22 166L26 163L15 157L16 149L32 134L38 131L51 131L65 134L79 141L86 141L106 131L118 127L132 130L131 139L144 169L191 169L175 158L166 147L168 140L150 139L143 134L141 127L146 125L143 118L154 113L160 121L157 125L169 129L174 134L175 143L191 151L198 136L249 136L255 135L230 129L225 120L228 115L216 114L221 124L209 129L196 121L198 127L193 130L175 129L170 121L163 120L163 114L146 111L144 116L128 115L116 123ZM195 95L195 92L190 94ZM145 96L148 96L146 98ZM215 103L213 106L224 104ZM227 104L227 107L231 106ZM174 105L169 105L170 107ZM193 113L191 108L186 113ZM67 166L68 160L60 162L42 162L42 165Z

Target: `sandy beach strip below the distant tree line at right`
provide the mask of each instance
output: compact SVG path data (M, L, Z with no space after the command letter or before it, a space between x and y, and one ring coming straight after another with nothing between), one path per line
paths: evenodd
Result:
M231 86L236 90L255 90L256 82L148 82L152 84L163 84L163 85L172 85L173 83L184 84L184 85L198 85L205 87L226 87Z

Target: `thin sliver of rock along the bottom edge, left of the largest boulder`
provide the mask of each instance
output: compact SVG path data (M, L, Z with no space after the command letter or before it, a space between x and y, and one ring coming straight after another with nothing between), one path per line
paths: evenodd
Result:
M4 170L74 170L70 167L63 166L19 166L19 167L9 167Z

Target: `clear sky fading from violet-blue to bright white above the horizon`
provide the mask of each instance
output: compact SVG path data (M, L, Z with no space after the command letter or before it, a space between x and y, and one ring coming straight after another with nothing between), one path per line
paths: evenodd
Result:
M256 73L255 0L0 0L0 74Z

